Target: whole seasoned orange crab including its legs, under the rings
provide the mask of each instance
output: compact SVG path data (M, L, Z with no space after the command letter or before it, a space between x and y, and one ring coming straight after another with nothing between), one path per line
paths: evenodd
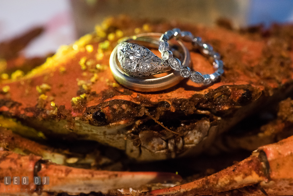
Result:
M125 187L149 191L155 186L149 189L141 187L149 182L175 186L181 184L181 177L158 172L72 168L69 167L72 164L102 168L99 163L103 165L111 160L103 153L82 157L81 153L56 151L52 144L49 147L39 143L96 141L102 151L111 146L123 151L130 160L155 161L196 156L204 151L212 153L221 147L256 150L291 134L290 131L280 134L281 130L290 130L292 122L288 116L282 118L279 115L279 119L271 122L276 124L273 131L269 129L273 125L268 125L261 132L241 139L233 135L221 136L228 141L224 147L219 136L247 116L275 105L291 93L291 26L275 27L267 32L258 29L236 32L221 27L176 24L176 27L202 37L222 54L226 63L225 74L218 83L197 88L186 80L154 93L132 91L116 83L108 65L110 53L119 39L132 35L134 31L165 32L174 27L168 23L149 24L125 17L111 18L97 26L93 34L83 36L70 46L61 46L54 56L30 72L24 74L18 70L10 78L2 74L0 124L4 128L1 129L0 176L51 176L50 185L36 187L31 183L29 194L40 187L49 189L50 193L70 194L107 193L114 189L119 191L111 194L121 194ZM192 46L188 47L192 51L192 68L213 72L209 61ZM291 100L287 100L283 105L292 108L290 103ZM282 123L284 126L278 126ZM14 142L15 139L19 142ZM290 143L291 140L283 142ZM247 145L247 141L253 142ZM243 142L246 145L242 145ZM87 146L86 142L82 146ZM278 157L275 150L282 147L281 143L260 147L251 157L222 173L141 194L203 195L222 191L230 194L229 190L242 187L251 189L254 194L292 194L291 173L284 175L282 169L285 166L278 168L276 165L292 159L293 149L285 146ZM8 166L8 163L12 165ZM286 167L293 165L292 161L286 164ZM167 181L172 183L166 185ZM251 185L259 187L253 189ZM5 185L0 183L0 189L2 186ZM286 191L281 190L287 186ZM41 192L45 194L46 191ZM18 193L11 191L10 194Z

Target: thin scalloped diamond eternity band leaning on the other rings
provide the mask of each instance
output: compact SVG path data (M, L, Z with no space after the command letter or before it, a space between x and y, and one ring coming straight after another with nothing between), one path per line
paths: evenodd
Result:
M191 42L192 45L198 48L202 54L212 58L213 66L216 71L212 74L202 75L200 72L191 71L189 67L183 66L181 61L177 58L173 58L172 52L169 50L168 40L176 38L182 39L186 42ZM195 83L201 83L208 85L217 80L223 73L223 61L220 60L219 53L213 51L213 47L208 43L203 43L200 37L194 37L189 31L180 31L179 28L166 31L160 38L159 51L161 52L163 61L166 61L168 65L175 71L179 71L183 78L190 78Z

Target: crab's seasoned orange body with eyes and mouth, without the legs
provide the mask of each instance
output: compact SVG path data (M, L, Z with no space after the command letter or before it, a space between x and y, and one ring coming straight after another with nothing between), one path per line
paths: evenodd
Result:
M96 32L61 46L26 75L15 72L11 79L2 80L0 111L46 138L95 140L150 161L195 156L217 135L292 90L293 53L288 47L292 40L282 34L291 27L272 28L269 35L221 27L177 27L202 37L222 55L225 73L220 81L197 87L186 79L153 93L119 85L109 68L118 39L133 35L136 28L162 33L174 28L122 17L108 19ZM192 70L212 73L208 59L186 45Z

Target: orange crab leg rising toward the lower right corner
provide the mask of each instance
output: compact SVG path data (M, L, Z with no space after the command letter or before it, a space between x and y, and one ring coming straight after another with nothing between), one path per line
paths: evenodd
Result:
M255 191L259 193L292 195L292 183L293 136L259 147L250 157L211 176L175 187L153 190L150 194L208 195L257 184L259 188Z

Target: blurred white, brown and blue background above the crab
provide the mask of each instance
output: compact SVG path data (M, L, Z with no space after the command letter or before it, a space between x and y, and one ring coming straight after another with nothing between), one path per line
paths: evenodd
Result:
M215 25L219 18L234 28L293 22L292 0L1 0L0 43L25 32L44 30L22 51L33 57L54 52L94 30L106 17L127 14L150 20L180 20Z

